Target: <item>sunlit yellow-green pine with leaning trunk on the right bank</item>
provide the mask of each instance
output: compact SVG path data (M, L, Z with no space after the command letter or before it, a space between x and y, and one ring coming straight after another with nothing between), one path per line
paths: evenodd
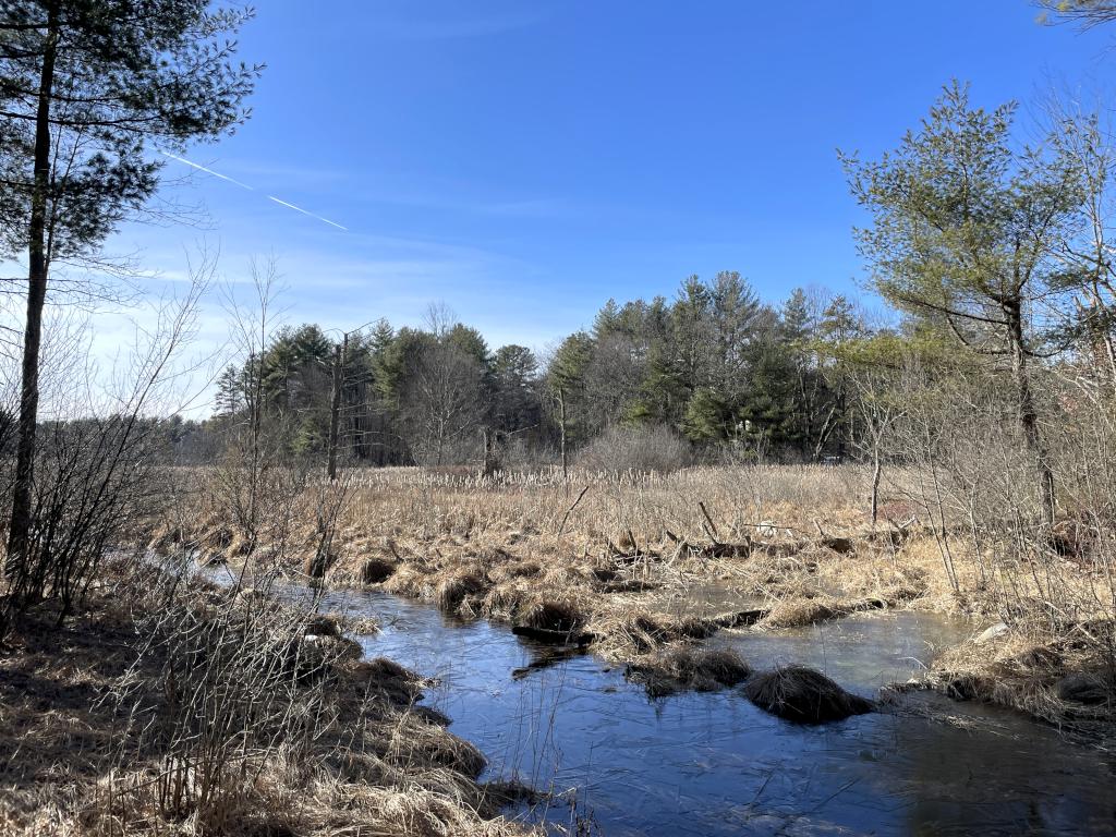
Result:
M1032 318L1055 299L1058 259L1084 202L1079 162L1057 140L1016 145L1016 106L971 107L954 84L918 132L878 162L846 156L853 193L872 213L858 231L876 287L969 350L1003 358L1045 520L1055 487L1031 365L1043 353Z

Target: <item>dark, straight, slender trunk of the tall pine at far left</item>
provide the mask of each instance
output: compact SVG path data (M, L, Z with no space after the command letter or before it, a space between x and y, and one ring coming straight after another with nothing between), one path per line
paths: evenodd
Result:
M39 414L39 347L42 341L42 308L47 299L49 254L46 246L47 193L50 187L50 100L58 45L58 9L47 12L47 38L39 76L39 102L35 117L35 184L28 229L27 325L23 331L23 368L19 397L16 479L12 485L11 523L8 529L9 577L26 569L31 531L31 493L35 481L35 434Z

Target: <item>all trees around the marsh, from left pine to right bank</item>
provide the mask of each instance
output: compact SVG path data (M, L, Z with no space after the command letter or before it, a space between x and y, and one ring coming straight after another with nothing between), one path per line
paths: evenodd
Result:
M1086 27L1116 19L1107 1L1040 4ZM45 377L44 346L59 339L45 312L128 297L134 287L114 281L126 266L102 246L126 219L173 215L151 208L155 152L247 118L261 68L237 59L235 35L250 17L206 0L0 3L0 254L23 272L4 285L22 310L4 339L0 638L26 607L77 595L138 514L156 452L218 461L246 422L253 459L266 441L330 470L566 464L642 432L708 459L856 453L877 480L885 463L917 465L939 507L953 491L974 521L1029 513L1032 500L1047 526L1069 500L1116 518L1112 132L1072 103L1020 128L1013 104L975 107L956 84L891 153L841 157L891 327L840 297L766 304L721 273L671 300L608 302L542 357L492 350L437 310L423 328L382 323L340 339L291 328L224 373L212 419L152 419L202 281L161 314L122 392L94 403L73 363ZM997 468L974 470L980 458ZM993 497L1000 512L977 508Z

